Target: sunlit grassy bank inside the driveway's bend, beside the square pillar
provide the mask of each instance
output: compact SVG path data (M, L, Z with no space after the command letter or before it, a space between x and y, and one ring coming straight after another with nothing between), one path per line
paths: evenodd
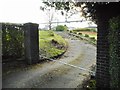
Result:
M40 53L51 58L65 52L67 43L53 31L39 31Z

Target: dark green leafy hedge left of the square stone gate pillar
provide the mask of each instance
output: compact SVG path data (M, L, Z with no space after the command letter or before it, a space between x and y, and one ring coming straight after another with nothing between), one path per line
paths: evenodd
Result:
M24 54L22 25L2 23L2 56L21 57Z

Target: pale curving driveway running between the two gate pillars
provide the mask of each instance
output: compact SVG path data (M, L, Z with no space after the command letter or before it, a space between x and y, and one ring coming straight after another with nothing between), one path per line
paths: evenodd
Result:
M68 50L58 59L85 69L96 63L96 47L60 33L68 41ZM47 61L24 69L16 69L3 76L3 88L76 88L88 71L58 62Z

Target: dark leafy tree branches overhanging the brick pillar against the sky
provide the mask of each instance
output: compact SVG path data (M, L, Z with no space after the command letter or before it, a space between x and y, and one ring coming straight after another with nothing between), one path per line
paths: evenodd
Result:
M44 2L44 3L49 7L55 7L55 9L57 10L65 10L65 11L69 11L74 7L80 7L83 16L93 20L94 22L96 22L97 19L99 18L100 12L102 11L111 12L111 9L115 11L115 9L118 9L120 7L119 6L120 2L114 2L114 3L111 3L111 2ZM111 7L111 6L114 6L114 7ZM117 11L115 14L118 15L119 11ZM106 17L111 18L114 15L111 15L109 17L106 16Z

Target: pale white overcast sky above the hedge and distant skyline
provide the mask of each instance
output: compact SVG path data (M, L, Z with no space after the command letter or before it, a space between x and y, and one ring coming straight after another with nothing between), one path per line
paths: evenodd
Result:
M44 23L48 22L48 15L40 10L42 0L0 0L0 22L11 23ZM58 21L65 21L60 13L54 13ZM70 20L80 20L80 13L72 16ZM40 25L44 27L44 25ZM73 26L73 23L69 24ZM74 23L74 26L88 26L86 22Z

